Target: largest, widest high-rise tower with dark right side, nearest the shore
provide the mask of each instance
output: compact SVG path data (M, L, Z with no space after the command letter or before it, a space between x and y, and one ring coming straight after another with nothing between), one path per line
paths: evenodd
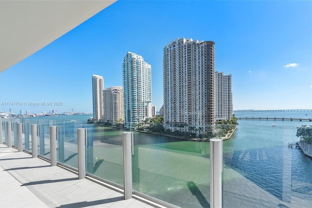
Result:
M178 38L164 47L165 129L200 134L215 124L214 45Z

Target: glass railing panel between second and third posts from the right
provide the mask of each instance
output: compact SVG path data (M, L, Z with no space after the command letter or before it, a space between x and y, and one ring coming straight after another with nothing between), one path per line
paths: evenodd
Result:
M123 185L122 132L104 125L87 125L87 173Z

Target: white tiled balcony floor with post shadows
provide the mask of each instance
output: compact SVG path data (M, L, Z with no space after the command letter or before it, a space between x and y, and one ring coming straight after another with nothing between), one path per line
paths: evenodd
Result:
M138 198L123 200L123 193L15 148L0 144L0 207L2 208L152 208Z

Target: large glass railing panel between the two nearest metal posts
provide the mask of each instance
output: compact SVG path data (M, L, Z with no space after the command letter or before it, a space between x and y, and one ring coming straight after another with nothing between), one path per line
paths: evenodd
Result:
M210 145L204 137L193 140L195 129L187 131L136 126L133 189L178 207L210 207Z

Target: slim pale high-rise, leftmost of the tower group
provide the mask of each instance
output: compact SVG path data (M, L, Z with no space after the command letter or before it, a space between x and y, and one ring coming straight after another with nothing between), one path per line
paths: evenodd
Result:
M94 121L98 121L103 117L103 89L104 78L98 75L92 75L92 100Z

